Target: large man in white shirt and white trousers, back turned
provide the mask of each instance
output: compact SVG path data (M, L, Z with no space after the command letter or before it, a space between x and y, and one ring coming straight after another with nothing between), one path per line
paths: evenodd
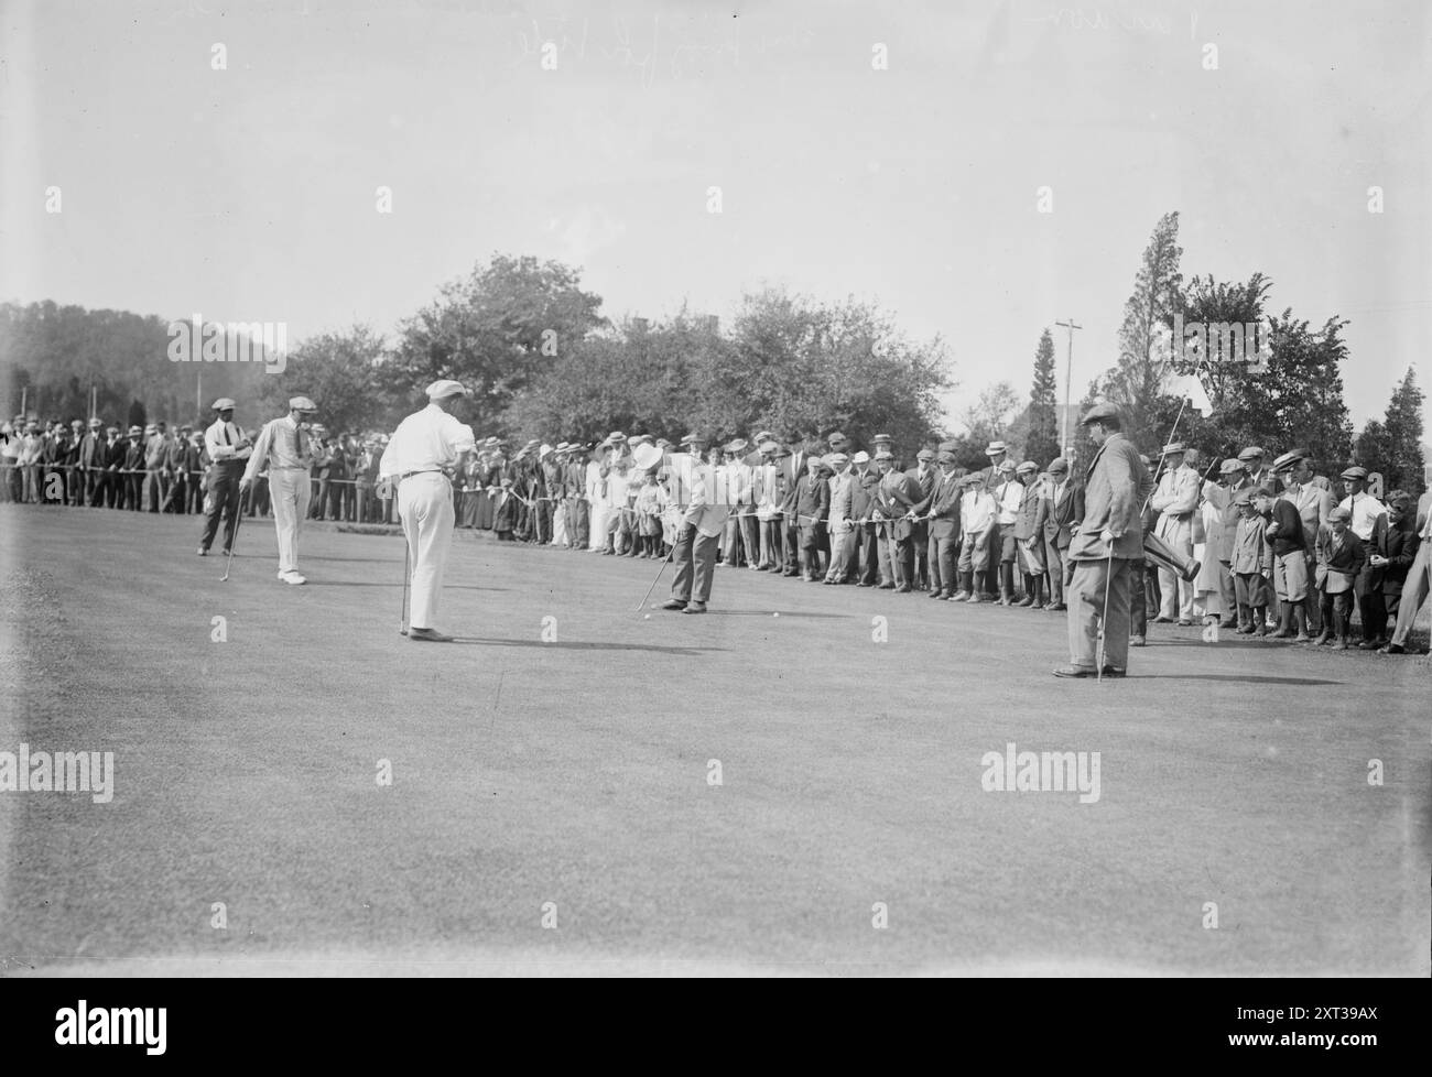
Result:
M437 630L442 570L453 546L453 483L448 474L475 451L473 428L457 421L450 410L467 390L455 381L428 385L428 405L408 415L384 450L378 474L398 480L398 518L408 540L412 566L412 612L408 639L418 643L450 643Z

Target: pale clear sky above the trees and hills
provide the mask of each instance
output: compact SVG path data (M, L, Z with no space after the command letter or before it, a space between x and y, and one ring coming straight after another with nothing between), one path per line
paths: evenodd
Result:
M493 252L579 265L613 318L780 282L942 334L958 415L1027 394L1070 315L1081 397L1177 209L1186 276L1262 271L1272 309L1352 319L1359 427L1409 365L1432 388L1422 0L0 9L0 298L292 342L391 332Z

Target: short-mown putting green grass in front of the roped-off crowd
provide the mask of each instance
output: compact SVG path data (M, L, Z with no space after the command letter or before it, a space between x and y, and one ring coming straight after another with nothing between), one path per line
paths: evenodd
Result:
M473 534L420 644L401 538L289 587L271 523L228 583L196 531L0 507L0 752L115 753L107 803L0 792L7 975L1429 971L1426 659L1158 626L1063 682L1063 614L633 612L654 561ZM987 792L1008 743L1098 799Z

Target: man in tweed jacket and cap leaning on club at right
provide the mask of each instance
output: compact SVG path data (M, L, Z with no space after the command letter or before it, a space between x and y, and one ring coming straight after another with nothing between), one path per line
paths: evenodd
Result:
M1140 507L1153 490L1138 450L1113 404L1081 421L1097 445L1084 481L1084 520L1070 543L1070 665L1057 677L1121 677L1128 667L1128 607L1143 569Z

